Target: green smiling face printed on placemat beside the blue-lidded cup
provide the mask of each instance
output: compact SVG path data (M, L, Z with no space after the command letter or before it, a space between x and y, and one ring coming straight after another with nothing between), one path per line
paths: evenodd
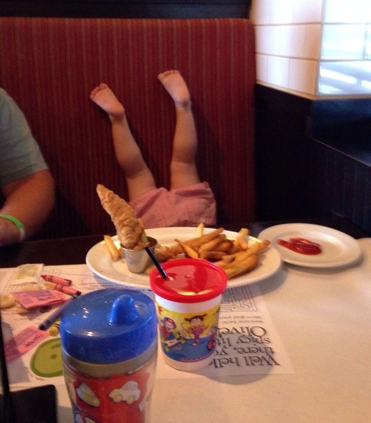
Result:
M60 338L40 344L31 358L30 367L35 375L42 378L63 375Z

